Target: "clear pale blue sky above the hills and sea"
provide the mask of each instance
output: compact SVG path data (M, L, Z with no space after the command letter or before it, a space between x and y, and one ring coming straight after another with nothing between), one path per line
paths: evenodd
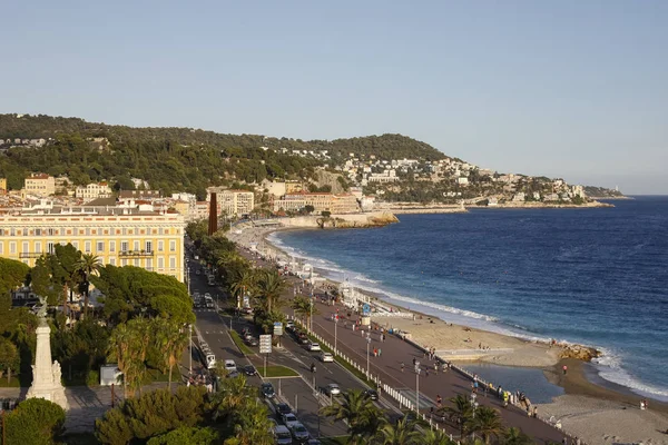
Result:
M668 1L12 1L0 112L302 139L401 132L668 194Z

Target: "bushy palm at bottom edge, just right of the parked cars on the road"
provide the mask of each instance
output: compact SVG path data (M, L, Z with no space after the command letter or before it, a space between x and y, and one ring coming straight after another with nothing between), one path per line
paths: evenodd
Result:
M351 444L374 436L385 422L383 413L362 389L348 389L340 400L323 407L321 414L334 417L334 422L345 422Z

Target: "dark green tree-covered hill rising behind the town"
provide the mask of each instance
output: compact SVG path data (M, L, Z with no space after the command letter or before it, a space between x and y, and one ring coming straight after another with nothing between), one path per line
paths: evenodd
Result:
M77 185L111 180L124 189L132 188L130 178L141 178L166 194L186 190L202 197L209 185L307 178L325 164L323 158L294 156L293 150L326 150L332 158L330 166L351 152L386 160L445 157L430 145L401 135L304 141L191 128L110 126L45 115L0 115L0 139L17 138L52 140L43 147L3 150L0 176L7 177L13 189L22 186L30 171L42 171L67 175ZM100 149L91 138L107 138L109 144Z

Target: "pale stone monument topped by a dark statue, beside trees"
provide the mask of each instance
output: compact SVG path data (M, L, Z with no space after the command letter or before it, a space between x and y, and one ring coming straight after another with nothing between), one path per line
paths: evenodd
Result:
M51 362L51 328L47 323L47 301L40 297L42 304L39 313L39 326L37 327L37 353L35 365L32 365L32 385L28 389L27 398L40 397L53 402L68 409L65 387L60 382L60 364Z

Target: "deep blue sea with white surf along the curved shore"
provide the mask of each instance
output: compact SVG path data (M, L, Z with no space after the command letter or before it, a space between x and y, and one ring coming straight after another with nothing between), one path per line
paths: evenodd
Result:
M382 228L269 241L325 277L449 323L593 346L597 382L668 402L668 196L611 202L399 215Z

